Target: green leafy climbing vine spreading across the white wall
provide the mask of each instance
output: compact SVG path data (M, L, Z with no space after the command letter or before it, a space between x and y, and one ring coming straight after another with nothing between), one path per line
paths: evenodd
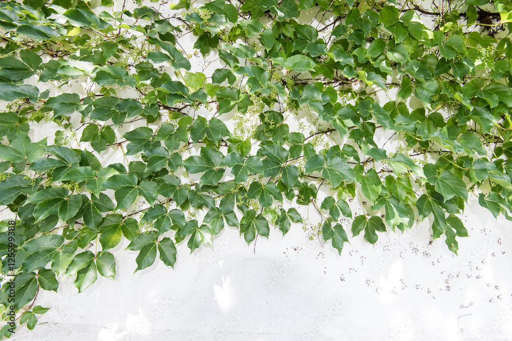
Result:
M488 0L0 2L0 334L61 276L115 278L123 242L137 271L227 228L341 253L429 217L456 254L468 200L512 220L511 22Z

